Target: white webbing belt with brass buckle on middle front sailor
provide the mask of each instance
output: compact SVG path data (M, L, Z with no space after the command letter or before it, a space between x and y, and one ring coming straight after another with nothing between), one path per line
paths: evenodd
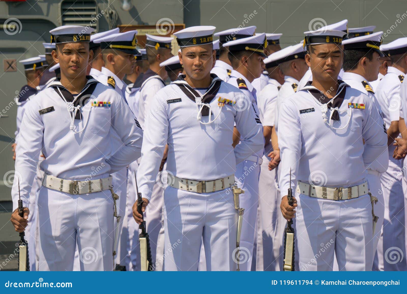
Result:
M232 187L232 185L234 185L234 174L212 181L181 179L177 176L171 176L171 174L168 174L167 183L173 188L188 192L211 193Z

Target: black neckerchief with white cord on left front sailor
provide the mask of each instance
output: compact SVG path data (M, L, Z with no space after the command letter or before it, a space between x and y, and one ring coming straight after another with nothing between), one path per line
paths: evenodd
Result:
M50 87L52 87L55 92L57 92L57 94L61 97L62 100L64 100L63 98L65 98L65 100L67 102L74 102L74 106L77 107L78 105L81 105L81 107L83 105L85 105L86 101L88 101L88 99L91 98L91 95L93 93L93 91L95 90L97 84L99 83L97 80L95 80L92 76L86 76L86 78L88 79L88 81L86 82L85 87L83 87L83 89L85 89L85 91L83 91L82 89L82 93L80 96L77 96L75 102L74 102L74 96L71 94L70 91L68 91L59 81L59 79L56 79L51 85ZM61 93L58 91L58 89L61 90ZM62 94L62 96L61 96ZM84 97L85 96L85 97ZM84 97L83 99L81 97ZM65 101L64 100L64 101ZM75 115L75 120L80 120L81 119L81 112L77 111L76 115Z

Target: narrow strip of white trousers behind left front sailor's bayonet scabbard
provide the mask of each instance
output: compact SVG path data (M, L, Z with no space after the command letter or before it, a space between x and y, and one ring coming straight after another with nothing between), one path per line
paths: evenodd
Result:
M125 256L126 253L120 252L120 250L121 251L126 250L127 247L127 240L123 240L122 242L121 237L127 202L127 167L122 168L118 172L114 172L112 174L112 185L114 192L119 196L119 200L117 201L117 214L118 216L120 216L117 244L116 248L114 248L114 250L116 250L117 253L115 256L115 264L124 266L125 264L122 264L122 259L120 257ZM116 218L114 218L114 226L116 227Z

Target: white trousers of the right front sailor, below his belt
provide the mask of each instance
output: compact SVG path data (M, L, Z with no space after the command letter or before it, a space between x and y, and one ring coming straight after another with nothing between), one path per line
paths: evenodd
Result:
M368 194L340 201L298 193L295 198L299 270L332 271L334 252L340 270L371 270L373 225Z

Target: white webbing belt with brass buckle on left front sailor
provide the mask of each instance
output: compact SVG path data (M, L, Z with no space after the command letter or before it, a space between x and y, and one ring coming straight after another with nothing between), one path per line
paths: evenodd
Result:
M56 176L44 174L42 185L49 189L69 194L88 194L110 189L110 186L112 186L112 176L91 181L74 181L59 179Z

